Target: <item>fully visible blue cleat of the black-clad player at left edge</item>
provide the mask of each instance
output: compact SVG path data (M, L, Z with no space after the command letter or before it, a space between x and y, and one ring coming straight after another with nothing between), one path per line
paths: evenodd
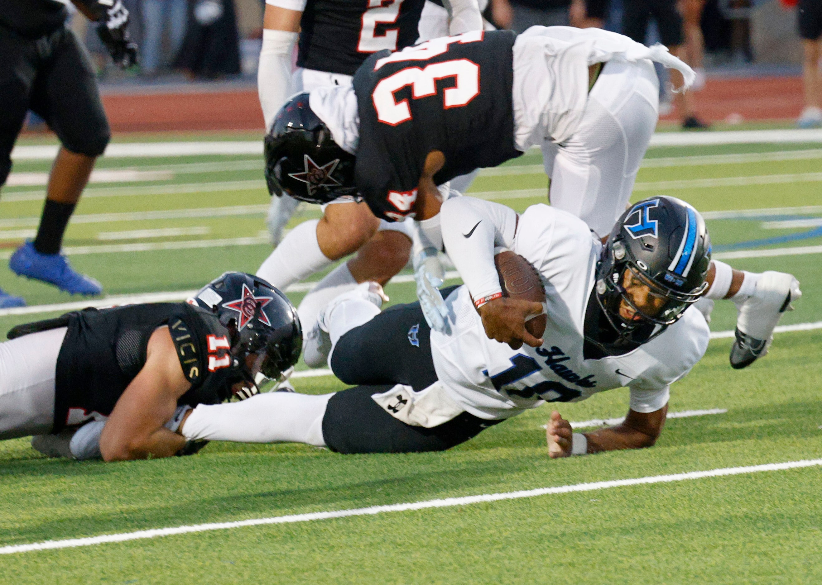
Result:
M40 254L29 240L12 254L8 267L18 276L42 280L70 294L95 295L103 285L90 276L80 274L62 254Z

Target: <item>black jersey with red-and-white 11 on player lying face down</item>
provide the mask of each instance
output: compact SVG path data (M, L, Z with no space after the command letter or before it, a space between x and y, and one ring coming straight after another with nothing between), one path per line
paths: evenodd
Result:
M53 433L96 415L108 417L145 365L155 329L169 326L191 389L179 404L214 404L229 398L224 380L233 371L229 332L210 311L184 302L85 309L25 325L28 332L67 326L57 360Z

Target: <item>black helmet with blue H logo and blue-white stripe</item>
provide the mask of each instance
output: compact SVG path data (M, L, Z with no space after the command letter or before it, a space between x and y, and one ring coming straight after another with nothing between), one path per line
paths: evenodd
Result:
M617 342L646 343L676 323L708 288L710 263L708 229L692 206L667 196L631 205L617 220L597 264L595 294ZM640 311L626 294L626 271L661 300L653 315ZM620 316L621 301L639 318Z

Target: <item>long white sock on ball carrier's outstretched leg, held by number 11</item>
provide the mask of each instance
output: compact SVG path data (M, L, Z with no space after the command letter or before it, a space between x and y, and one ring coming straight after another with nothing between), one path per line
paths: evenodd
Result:
M332 396L267 392L237 403L200 404L182 427L182 435L188 440L325 447L322 417Z

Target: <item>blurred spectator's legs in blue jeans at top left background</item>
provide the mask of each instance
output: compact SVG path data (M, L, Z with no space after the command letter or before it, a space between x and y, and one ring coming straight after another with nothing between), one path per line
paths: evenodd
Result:
M155 76L160 67L173 62L186 36L187 0L142 0L143 39L140 70ZM163 33L168 38L163 38Z

